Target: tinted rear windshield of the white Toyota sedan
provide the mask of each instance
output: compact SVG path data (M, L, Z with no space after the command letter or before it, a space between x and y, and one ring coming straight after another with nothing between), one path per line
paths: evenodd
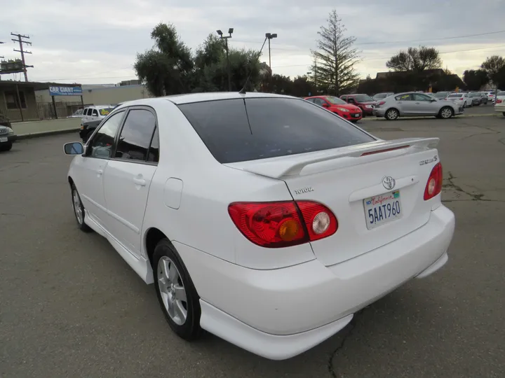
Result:
M179 109L222 164L375 141L333 113L301 99L227 99L181 104Z

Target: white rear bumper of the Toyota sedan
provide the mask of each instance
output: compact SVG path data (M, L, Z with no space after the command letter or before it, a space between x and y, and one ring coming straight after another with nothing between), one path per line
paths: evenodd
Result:
M447 261L454 214L441 205L422 228L337 265L312 260L255 270L174 241L201 297L202 328L271 359L302 353L334 335L352 314Z

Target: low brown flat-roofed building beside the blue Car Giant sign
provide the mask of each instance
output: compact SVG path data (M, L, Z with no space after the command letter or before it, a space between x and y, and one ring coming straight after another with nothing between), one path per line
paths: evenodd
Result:
M0 80L0 113L11 122L64 118L82 106L80 97L72 97L72 102L55 106L51 98L46 103L37 101L36 92L49 87L80 87L80 84L36 83L13 80Z

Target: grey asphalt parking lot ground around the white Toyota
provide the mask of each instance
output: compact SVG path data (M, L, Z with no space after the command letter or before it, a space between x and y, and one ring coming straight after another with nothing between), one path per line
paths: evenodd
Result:
M0 154L0 377L504 377L505 118L470 111L483 116L360 123L440 137L450 260L284 361L177 338L153 286L76 228L62 145L77 134L18 142Z

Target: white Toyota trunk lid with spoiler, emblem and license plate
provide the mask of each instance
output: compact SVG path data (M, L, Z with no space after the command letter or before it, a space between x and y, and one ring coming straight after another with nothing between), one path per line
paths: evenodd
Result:
M282 179L294 200L321 202L331 209L339 223L337 232L312 241L311 247L323 264L334 265L403 237L429 220L433 202L440 202L439 195L423 199L431 169L439 161L433 148L437 144L436 138L376 141L229 166ZM399 195L392 194L396 191ZM389 213L385 221L385 216L381 220L377 215L377 204L382 207L383 197L376 196L383 195L384 204L394 207L399 201L399 218L391 218ZM369 209L375 227L368 224ZM382 221L386 223L376 225Z

